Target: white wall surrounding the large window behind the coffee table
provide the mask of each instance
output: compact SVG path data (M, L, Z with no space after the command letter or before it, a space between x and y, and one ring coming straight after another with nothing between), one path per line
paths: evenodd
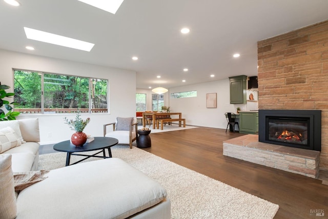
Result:
M0 81L3 85L11 87L10 92L13 91L14 81L12 69L108 79L110 113L83 114L82 118L91 118L91 122L84 130L87 134L103 136L103 124L114 122L117 116L135 116L136 72L134 71L0 50ZM74 118L75 114L19 115L17 119L39 118L40 142L52 144L70 139L74 132L64 123L64 116Z

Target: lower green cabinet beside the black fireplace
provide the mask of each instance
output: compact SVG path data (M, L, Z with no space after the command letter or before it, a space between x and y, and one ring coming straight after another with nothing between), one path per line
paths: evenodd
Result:
M239 133L258 133L258 111L239 112Z

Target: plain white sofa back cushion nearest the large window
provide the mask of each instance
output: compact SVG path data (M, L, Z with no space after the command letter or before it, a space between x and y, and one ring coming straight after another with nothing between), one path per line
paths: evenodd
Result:
M26 142L40 142L38 118L26 118L18 120L20 132Z

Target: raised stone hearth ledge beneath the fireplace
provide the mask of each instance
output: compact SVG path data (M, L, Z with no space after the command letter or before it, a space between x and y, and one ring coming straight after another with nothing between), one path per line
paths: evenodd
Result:
M312 178L319 175L319 151L262 143L256 134L224 141L223 155Z

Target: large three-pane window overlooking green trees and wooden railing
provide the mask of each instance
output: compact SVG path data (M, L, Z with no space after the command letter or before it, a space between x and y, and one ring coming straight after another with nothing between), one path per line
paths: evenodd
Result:
M108 112L108 81L14 70L15 111L26 113Z

